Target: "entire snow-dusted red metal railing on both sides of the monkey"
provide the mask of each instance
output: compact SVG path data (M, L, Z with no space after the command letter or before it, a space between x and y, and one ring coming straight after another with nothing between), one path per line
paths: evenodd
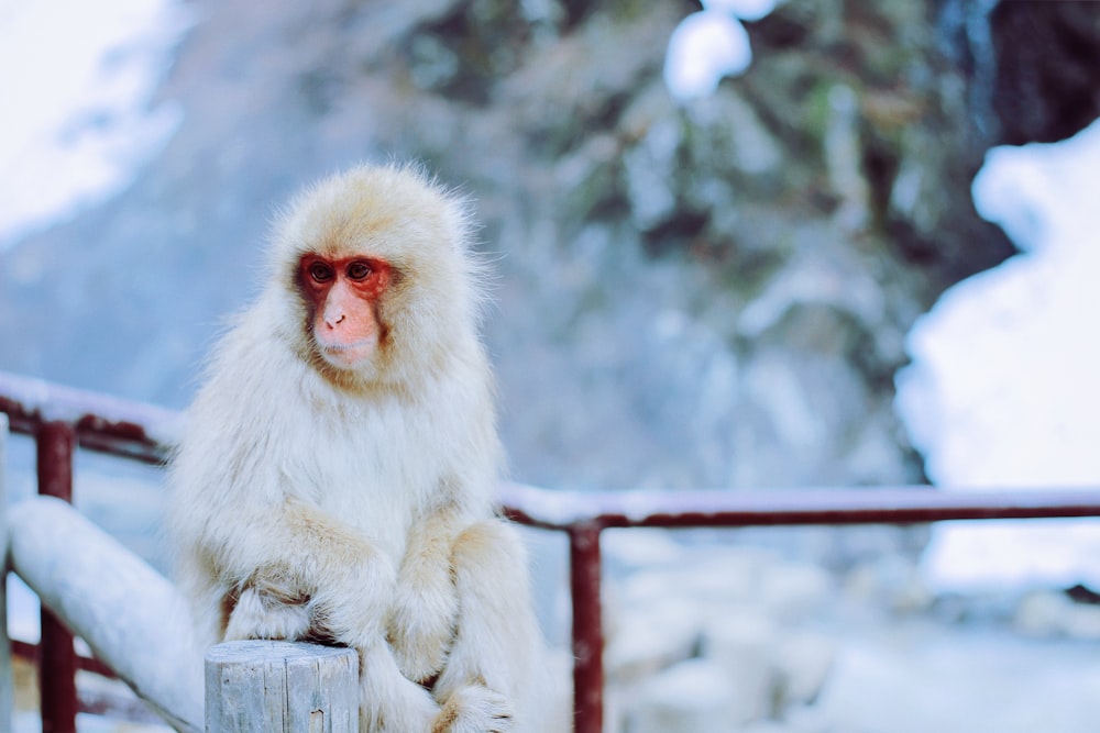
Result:
M56 492L54 496L72 492L75 446L160 464L167 456L165 446L178 419L174 412L146 404L2 373L0 412L8 413L12 430L37 441L40 491ZM606 529L1100 517L1100 490L1094 489L959 493L925 486L767 492L575 492L505 485L502 500L515 521L561 531L569 537L575 733L600 733L603 724L600 537ZM43 611L38 654L43 730L72 731L78 708L73 673L77 666L95 669L97 665L75 655L73 638L64 628L51 625L47 630L46 613ZM19 644L15 652L26 655L29 648ZM91 711L88 704L80 709Z

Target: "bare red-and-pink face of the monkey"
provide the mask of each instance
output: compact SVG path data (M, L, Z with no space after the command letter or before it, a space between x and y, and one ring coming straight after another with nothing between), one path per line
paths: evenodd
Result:
M389 275L389 265L381 259L328 259L317 254L301 258L299 282L310 304L314 340L326 362L353 369L377 351L382 337L377 303Z

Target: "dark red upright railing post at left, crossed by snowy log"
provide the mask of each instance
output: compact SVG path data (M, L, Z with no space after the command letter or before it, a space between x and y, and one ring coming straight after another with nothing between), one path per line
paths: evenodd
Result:
M38 493L73 501L73 452L76 432L65 422L44 422L36 440ZM73 634L45 607L38 646L38 699L43 733L76 730L76 651Z

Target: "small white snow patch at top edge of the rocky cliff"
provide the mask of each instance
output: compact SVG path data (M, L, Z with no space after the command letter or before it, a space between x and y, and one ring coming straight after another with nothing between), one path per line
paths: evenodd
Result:
M710 0L675 27L664 60L664 84L680 102L714 93L723 77L744 74L752 62L741 20L758 21L776 0Z

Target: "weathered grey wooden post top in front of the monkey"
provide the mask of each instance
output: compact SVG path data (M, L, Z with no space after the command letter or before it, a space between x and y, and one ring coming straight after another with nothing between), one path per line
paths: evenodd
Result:
M227 642L206 655L207 733L358 733L359 655L298 642Z

